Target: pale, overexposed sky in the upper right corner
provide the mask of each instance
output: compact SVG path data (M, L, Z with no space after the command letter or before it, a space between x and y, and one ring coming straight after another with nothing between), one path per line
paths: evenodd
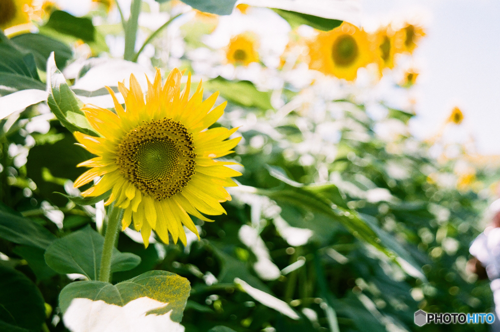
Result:
M362 25L408 18L427 36L414 53L420 70L417 117L420 138L435 134L458 106L457 136L473 137L482 154L500 154L500 2L496 0L361 0Z

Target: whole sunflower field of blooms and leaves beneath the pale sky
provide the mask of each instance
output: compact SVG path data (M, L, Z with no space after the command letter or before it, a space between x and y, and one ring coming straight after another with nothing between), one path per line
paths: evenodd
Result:
M500 163L443 139L458 107L411 134L425 28L356 3L0 0L0 331L492 312L466 264Z

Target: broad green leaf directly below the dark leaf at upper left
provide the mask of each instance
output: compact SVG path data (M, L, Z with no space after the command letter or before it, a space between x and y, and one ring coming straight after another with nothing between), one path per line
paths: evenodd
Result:
M22 34L12 37L11 41L26 52L31 52L36 67L43 71L52 52L58 68L64 68L66 61L73 56L73 52L66 44L40 34Z

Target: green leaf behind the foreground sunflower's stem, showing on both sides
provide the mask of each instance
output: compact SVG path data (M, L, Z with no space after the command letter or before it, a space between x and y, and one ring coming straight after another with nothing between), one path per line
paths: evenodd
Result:
M45 262L59 273L81 273L96 280L100 268L104 237L89 225L54 241L45 251ZM111 272L127 271L140 263L133 253L114 248Z

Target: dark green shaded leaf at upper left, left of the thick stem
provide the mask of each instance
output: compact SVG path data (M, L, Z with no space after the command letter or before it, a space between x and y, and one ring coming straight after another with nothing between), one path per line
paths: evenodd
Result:
M69 13L55 11L42 28L50 28L60 34L69 35L84 42L95 40L95 27L89 18L77 18Z

